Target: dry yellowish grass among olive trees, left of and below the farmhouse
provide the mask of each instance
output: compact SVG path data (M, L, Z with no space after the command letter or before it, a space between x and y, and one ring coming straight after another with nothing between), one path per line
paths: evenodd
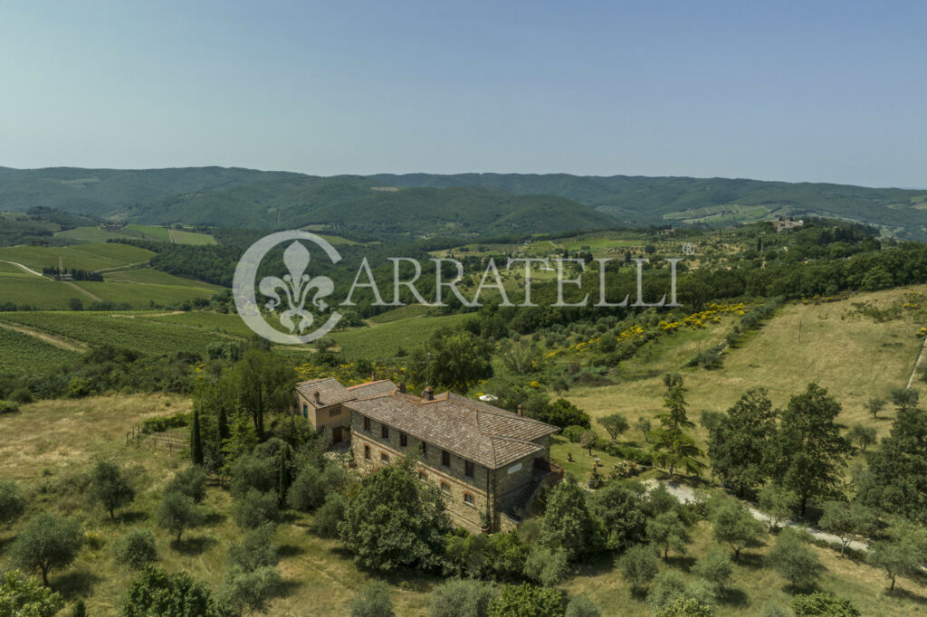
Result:
M29 495L26 518L39 511L57 510L79 520L92 539L69 570L51 576L52 586L69 602L84 597L87 592L81 590L89 587L89 614L110 614L118 609L133 573L112 563L111 545L133 527L155 532L161 567L189 572L213 590L221 585L227 547L241 538L227 516L228 494L210 488L204 504L210 515L208 523L186 532L180 550L171 548L171 537L156 526L154 512L161 488L184 460L160 449L125 446L126 432L142 419L189 409L190 402L177 397L98 397L44 401L0 418L4 429L0 431L0 477L23 482ZM97 459L120 460L137 488L135 501L115 524L109 523L101 510L84 510L80 495L43 488L67 485L71 474L89 470ZM337 542L309 533L310 523L309 517L294 515L277 531L275 542L281 547L286 597L275 599L269 614L347 615L346 603L372 580L337 549ZM0 530L0 546L8 546L21 524L12 531ZM6 558L0 552L0 569L5 566ZM387 580L398 585L401 579ZM428 585L413 577L406 580L415 588ZM394 601L397 614L425 614L425 593L396 589Z

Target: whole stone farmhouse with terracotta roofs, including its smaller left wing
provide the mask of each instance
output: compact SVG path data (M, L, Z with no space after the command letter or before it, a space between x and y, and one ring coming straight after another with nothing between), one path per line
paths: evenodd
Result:
M438 485L451 520L473 532L513 528L564 475L551 461L560 429L482 401L430 386L417 397L387 380L313 380L297 384L295 396L313 427L335 443L350 440L359 471L418 458L419 479Z

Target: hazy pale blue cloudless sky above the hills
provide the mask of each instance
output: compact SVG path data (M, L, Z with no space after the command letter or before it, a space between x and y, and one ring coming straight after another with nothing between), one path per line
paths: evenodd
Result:
M927 188L924 2L0 0L0 166Z

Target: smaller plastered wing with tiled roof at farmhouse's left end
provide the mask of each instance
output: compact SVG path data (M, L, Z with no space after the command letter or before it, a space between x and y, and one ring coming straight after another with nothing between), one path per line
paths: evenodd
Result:
M334 377L296 384L296 411L312 428L328 434L332 443L348 438L350 415L343 405L350 400L392 393L396 384L389 380L367 382L346 388Z

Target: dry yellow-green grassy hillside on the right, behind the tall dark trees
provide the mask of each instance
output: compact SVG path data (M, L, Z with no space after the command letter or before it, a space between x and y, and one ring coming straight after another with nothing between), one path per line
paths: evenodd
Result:
M791 395L817 380L843 405L844 423L871 424L882 435L889 429L887 418L892 412L883 413L884 420L873 421L863 405L870 397L887 397L893 387L908 384L923 342L915 335L921 322L906 314L899 320L878 323L854 314L852 303L866 301L887 307L900 301L908 289L924 291L927 287L860 294L821 305L790 304L759 332L749 334L741 347L726 352L723 367L716 371L680 367L692 359L699 346L704 349L720 342L730 332L732 321L694 333L682 330L649 351L645 348L641 359L622 364L627 381L577 388L566 397L593 417L620 411L633 422L662 409L666 391L662 376L679 371L689 389L690 414L697 420L702 409L726 410L747 388L755 386L768 388L773 404L784 407ZM801 343L797 340L799 322Z

